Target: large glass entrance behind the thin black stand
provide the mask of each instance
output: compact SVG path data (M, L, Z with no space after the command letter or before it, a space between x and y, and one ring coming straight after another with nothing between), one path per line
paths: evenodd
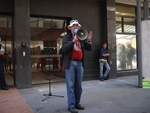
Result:
M66 20L30 18L32 84L64 81L62 55L59 54Z

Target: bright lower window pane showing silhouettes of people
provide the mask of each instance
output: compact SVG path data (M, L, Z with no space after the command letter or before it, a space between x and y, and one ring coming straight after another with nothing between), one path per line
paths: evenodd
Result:
M117 70L137 69L136 35L117 34Z

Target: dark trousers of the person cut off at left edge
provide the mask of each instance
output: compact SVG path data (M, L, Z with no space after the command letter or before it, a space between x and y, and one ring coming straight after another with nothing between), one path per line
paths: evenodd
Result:
M6 87L6 81L4 77L4 62L0 61L0 87Z

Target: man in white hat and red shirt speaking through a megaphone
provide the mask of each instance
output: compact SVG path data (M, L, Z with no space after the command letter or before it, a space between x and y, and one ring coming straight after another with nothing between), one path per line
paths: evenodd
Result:
M80 104L82 94L83 78L83 49L90 51L92 49L93 34L90 31L85 40L79 40L75 34L76 29L81 25L78 20L71 20L68 29L71 33L64 36L62 41L63 67L65 69L68 111L78 113L76 109L83 110ZM75 109L76 108L76 109Z

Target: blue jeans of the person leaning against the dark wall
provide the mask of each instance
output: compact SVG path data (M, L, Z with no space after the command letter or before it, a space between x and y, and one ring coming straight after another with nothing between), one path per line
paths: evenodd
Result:
M106 68L106 71L103 72L103 67L105 66ZM103 63L103 62L99 62L99 67L100 67L100 77L107 77L109 71L110 71L110 66L109 64L106 62L106 63Z

